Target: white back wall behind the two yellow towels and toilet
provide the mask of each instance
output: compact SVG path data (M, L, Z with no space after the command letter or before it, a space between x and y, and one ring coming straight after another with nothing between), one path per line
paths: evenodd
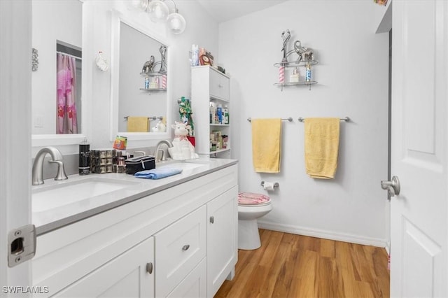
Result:
M384 246L387 178L388 36L374 34L372 1L286 1L219 26L219 57L230 73L232 156L239 159L239 187L265 192L262 180L279 182L274 209L261 227ZM281 61L281 32L314 49L317 85L283 92L274 63ZM304 171L299 117L344 117L334 180ZM253 171L247 118L283 122L281 173ZM235 150L234 150L235 149Z

